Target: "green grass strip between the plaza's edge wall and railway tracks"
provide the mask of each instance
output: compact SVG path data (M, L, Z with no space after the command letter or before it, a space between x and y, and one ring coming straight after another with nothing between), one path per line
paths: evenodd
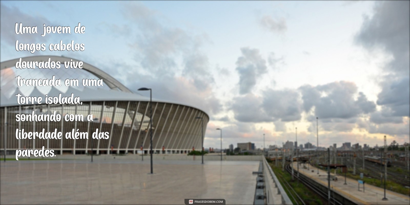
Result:
M312 205L323 205L323 201L321 196L318 196L314 191L310 190L309 188L307 188L305 185L303 185L302 182L297 182L297 180L293 180L292 181L292 175L290 175L289 173L287 173L287 171L282 171L282 166L273 166L273 164L270 164L272 167L273 172L276 174L276 176L278 178L280 178L280 176L283 176L283 178L285 178L285 180L289 183L289 185L292 186L292 188L296 191L296 193L302 198L302 200L306 203L306 204L312 204ZM282 179L282 178L281 178ZM279 180L281 180L279 179ZM285 188L286 185L282 184L282 187ZM294 201L293 198L291 197L291 194L288 192L289 190L285 189L287 195L289 196L289 198L292 200L292 202L294 204L298 204L299 201ZM295 196L296 198L296 196Z

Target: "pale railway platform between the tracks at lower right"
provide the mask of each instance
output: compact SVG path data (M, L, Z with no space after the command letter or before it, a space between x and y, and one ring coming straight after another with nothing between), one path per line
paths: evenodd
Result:
M301 174L308 175L310 178L320 182L322 185L328 186L327 172L320 170L319 175L317 174L317 169L312 169L307 171L307 169L301 168L303 165L299 166L299 171ZM296 162L294 162L294 168L296 167ZM312 166L310 166L312 168ZM331 174L333 176L333 174ZM353 179L346 179L347 185L344 185L344 176L337 175L337 181L330 181L330 188L335 190L337 193L343 195L346 198L354 201L357 204L410 204L410 197L403 194L399 194L393 191L386 190L387 201L381 200L384 196L384 189L380 187L375 187L372 185L360 185L360 190L358 191L358 181Z

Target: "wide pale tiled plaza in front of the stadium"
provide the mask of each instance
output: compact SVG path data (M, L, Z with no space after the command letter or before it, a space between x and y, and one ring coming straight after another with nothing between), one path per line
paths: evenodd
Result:
M0 163L1 204L253 204L257 161L32 160Z

